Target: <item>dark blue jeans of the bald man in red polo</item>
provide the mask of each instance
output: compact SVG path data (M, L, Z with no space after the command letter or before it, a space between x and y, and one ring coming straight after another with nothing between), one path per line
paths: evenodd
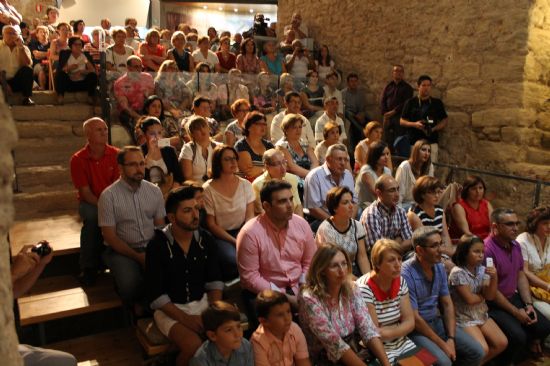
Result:
M78 213L82 218L80 231L80 269L97 269L101 260L103 235L97 224L97 206L80 202Z

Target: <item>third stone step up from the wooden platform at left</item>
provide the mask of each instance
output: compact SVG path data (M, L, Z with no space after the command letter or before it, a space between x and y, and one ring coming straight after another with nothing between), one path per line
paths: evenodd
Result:
M15 164L17 167L66 165L83 145L82 137L73 135L22 139L15 147Z

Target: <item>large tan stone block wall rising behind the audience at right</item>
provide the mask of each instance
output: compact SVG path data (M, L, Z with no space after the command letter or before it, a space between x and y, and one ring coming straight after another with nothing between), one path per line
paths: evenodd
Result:
M338 69L358 72L377 118L393 63L413 86L433 78L449 114L441 162L550 181L548 1L279 0L280 29L294 11ZM502 182L497 199L530 199L533 185Z

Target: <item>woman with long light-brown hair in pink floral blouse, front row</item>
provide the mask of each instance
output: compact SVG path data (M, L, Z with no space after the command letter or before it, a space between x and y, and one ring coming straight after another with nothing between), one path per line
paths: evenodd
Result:
M336 245L315 253L298 297L300 324L314 365L367 365L366 349L390 365L361 292L351 281L351 261ZM362 341L362 342L360 342Z

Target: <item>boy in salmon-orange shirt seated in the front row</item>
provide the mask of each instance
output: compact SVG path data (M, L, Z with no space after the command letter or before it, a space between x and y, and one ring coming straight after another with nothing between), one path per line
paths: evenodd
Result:
M286 295L272 290L260 292L256 298L256 315L260 326L250 338L256 366L311 365L306 338L292 321Z

